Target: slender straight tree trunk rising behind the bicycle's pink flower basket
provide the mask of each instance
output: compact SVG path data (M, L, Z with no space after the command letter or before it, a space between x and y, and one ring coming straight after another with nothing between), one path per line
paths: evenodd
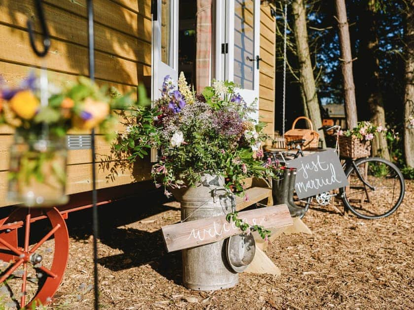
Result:
M357 125L355 85L352 73L351 40L349 37L348 19L346 17L345 0L335 0L338 17L339 40L342 57L342 75L344 79L346 124L352 129Z

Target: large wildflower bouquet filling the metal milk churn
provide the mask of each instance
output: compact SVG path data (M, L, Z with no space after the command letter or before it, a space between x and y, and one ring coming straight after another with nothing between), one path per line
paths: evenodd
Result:
M128 152L130 161L157 148L152 176L166 195L171 195L167 188L194 185L203 174L225 176L243 191L244 178L264 176L267 170L258 160L264 125L249 117L254 105L243 100L233 82L214 81L194 93L182 73L178 88L166 76L161 98L153 108L136 108L131 118L138 122L131 122L114 147Z

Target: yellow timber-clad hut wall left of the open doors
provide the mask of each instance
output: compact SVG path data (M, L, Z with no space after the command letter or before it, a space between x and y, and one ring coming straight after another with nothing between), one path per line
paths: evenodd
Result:
M74 80L88 75L88 33L86 0L43 0L45 18L51 35L48 56L40 60L32 52L26 22L35 22L36 43L40 46L40 26L36 21L34 0L0 1L0 74L16 85L30 69L45 66L54 81ZM95 67L100 85L114 86L137 97L137 86L150 89L151 75L151 1L94 0ZM124 130L122 120L116 128ZM71 132L70 134L89 134ZM0 126L0 206L7 190L8 147L13 129ZM106 188L150 178L149 160L129 166L125 156L115 158L110 144L97 132L97 187ZM92 189L91 150L68 151L69 194Z

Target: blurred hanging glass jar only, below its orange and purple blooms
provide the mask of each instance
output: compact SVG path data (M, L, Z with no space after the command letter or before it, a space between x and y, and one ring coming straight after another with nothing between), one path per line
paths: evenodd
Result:
M10 147L8 199L26 207L53 207L68 202L65 137L16 131Z

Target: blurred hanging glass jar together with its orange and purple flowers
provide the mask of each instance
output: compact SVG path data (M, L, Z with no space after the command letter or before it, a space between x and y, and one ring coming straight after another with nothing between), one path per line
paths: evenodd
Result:
M109 140L115 136L112 128L117 123L111 110L132 104L129 96L111 96L85 77L64 87L42 83L40 87L39 79L31 74L18 87L0 85L0 124L15 128L8 197L26 206L67 200L64 137L69 129L99 127Z

